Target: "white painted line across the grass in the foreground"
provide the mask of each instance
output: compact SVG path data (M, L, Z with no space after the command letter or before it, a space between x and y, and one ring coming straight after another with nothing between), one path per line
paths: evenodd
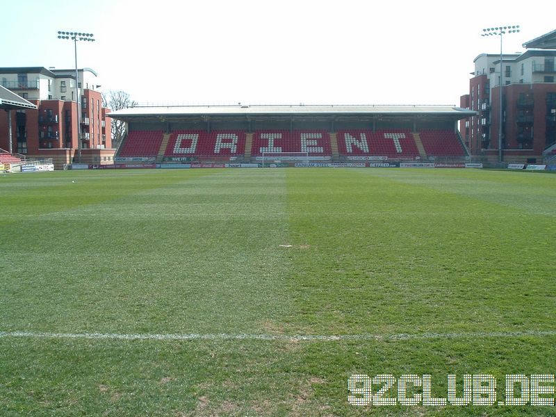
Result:
M530 330L525 332L462 332L462 333L420 333L420 334L341 334L330 335L293 335L284 334L120 334L120 333L49 333L49 332L0 332L2 337L26 338L75 338L105 340L155 340L155 341L195 341L195 340L246 340L246 341L406 341L437 338L480 338L480 337L523 337L523 336L556 336L556 330Z

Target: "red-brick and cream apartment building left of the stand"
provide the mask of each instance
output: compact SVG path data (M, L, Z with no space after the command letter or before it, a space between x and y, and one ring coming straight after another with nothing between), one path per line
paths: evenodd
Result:
M0 83L38 107L9 113L14 152L55 158L58 163L71 163L80 156L88 163L113 161L111 119L102 106L94 70L78 70L76 80L75 70L0 67ZM8 113L0 114L0 148L10 148L8 137Z

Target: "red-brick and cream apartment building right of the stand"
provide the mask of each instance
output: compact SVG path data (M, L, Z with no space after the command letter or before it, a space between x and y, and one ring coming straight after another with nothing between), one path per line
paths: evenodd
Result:
M502 88L502 160L540 162L556 144L556 31L525 42L523 54L480 54L460 106L477 111L460 122L473 156L498 160ZM500 87L500 72L503 85Z

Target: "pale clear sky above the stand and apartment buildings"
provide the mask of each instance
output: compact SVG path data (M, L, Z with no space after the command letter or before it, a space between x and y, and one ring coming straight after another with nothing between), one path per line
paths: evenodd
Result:
M1 0L0 67L74 68L142 104L459 104L482 28L506 54L556 29L556 1Z

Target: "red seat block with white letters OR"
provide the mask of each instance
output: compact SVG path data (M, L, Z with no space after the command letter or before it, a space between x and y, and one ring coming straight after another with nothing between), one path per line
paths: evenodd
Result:
M174 131L165 157L229 159L245 154L245 131Z

